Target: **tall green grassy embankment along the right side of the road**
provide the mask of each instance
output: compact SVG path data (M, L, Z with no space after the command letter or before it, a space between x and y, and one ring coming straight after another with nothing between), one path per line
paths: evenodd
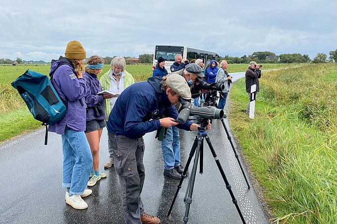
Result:
M244 79L232 87L230 127L275 223L337 223L336 90L336 63L265 72L251 120Z

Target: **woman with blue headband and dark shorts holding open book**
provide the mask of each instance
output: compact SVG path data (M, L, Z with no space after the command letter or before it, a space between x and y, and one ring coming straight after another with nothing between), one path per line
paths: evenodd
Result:
M91 56L87 60L85 73L83 78L87 83L87 93L85 101L87 103L88 112L86 116L85 135L90 145L91 154L93 156L93 166L91 169L88 186L94 186L101 178L106 178L107 174L99 172L100 164L100 139L103 128L106 127L106 113L104 100L111 98L112 95L97 95L102 91L100 81L97 75L102 72L104 60L97 55Z

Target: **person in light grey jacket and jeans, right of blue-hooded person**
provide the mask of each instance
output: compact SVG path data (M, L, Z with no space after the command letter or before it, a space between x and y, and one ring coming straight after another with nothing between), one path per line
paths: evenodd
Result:
M225 108L225 104L226 104L226 99L227 99L227 95L228 95L228 80L231 80L231 76L228 75L227 73L227 68L228 68L228 63L227 61L222 61L220 63L220 69L218 70L215 82L216 83L221 83L224 84L225 88L224 90L220 93L220 99L219 99L219 104L218 104L218 108L219 109L224 109ZM224 117L226 117L226 115L224 115Z

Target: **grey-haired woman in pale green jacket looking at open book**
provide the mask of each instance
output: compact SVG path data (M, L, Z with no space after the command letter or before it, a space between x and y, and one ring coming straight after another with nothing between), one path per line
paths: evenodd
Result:
M103 90L110 90L112 92L120 94L128 86L135 83L132 75L125 70L126 62L123 57L114 57L110 65L111 69L109 69L109 71L106 72L100 79ZM105 111L107 115L106 121L109 118L110 111L112 110L117 98L117 95L112 95L112 98L105 99ZM113 165L112 141L110 140L109 135L108 148L109 160L104 164L105 168L110 168Z

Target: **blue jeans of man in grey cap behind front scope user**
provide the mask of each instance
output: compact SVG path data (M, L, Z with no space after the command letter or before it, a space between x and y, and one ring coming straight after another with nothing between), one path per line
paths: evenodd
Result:
M172 126L168 129L162 141L162 151L165 170L171 170L180 165L179 129Z

